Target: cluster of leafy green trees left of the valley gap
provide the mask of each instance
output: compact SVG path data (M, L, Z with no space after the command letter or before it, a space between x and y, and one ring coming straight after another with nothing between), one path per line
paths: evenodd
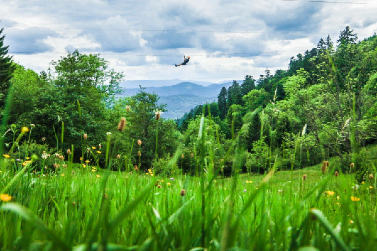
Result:
M66 155L73 146L74 161L83 163L80 157L89 148L92 160L101 152L100 165L104 167L104 147L110 135L112 155L121 157L113 169L133 170L137 164L146 170L155 160L156 131L161 128L158 157L169 158L175 153L181 137L176 123L155 119L155 112L165 111L165 105L158 105L159 98L143 88L135 96L116 99L124 76L100 55L69 52L38 74L13 62L3 41L4 35L0 36L2 151L17 146L12 157L22 160L27 157L25 152L39 157L43 151ZM127 122L120 132L117 126L122 117ZM31 129L29 146L28 137L15 142L22 126Z

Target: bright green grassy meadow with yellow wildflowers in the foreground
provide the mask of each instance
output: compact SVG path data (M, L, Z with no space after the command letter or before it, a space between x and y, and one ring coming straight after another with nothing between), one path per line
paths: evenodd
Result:
M374 180L352 189L352 175L319 166L224 179L90 166L0 178L11 196L1 250L375 250Z

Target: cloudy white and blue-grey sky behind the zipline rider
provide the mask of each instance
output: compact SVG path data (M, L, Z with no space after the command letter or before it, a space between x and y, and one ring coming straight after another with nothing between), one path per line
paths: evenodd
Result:
M337 0L340 1L340 0ZM101 53L125 80L220 82L287 69L291 56L351 26L377 31L375 0L0 0L14 60L37 72L67 51ZM174 67L183 55L190 64Z

